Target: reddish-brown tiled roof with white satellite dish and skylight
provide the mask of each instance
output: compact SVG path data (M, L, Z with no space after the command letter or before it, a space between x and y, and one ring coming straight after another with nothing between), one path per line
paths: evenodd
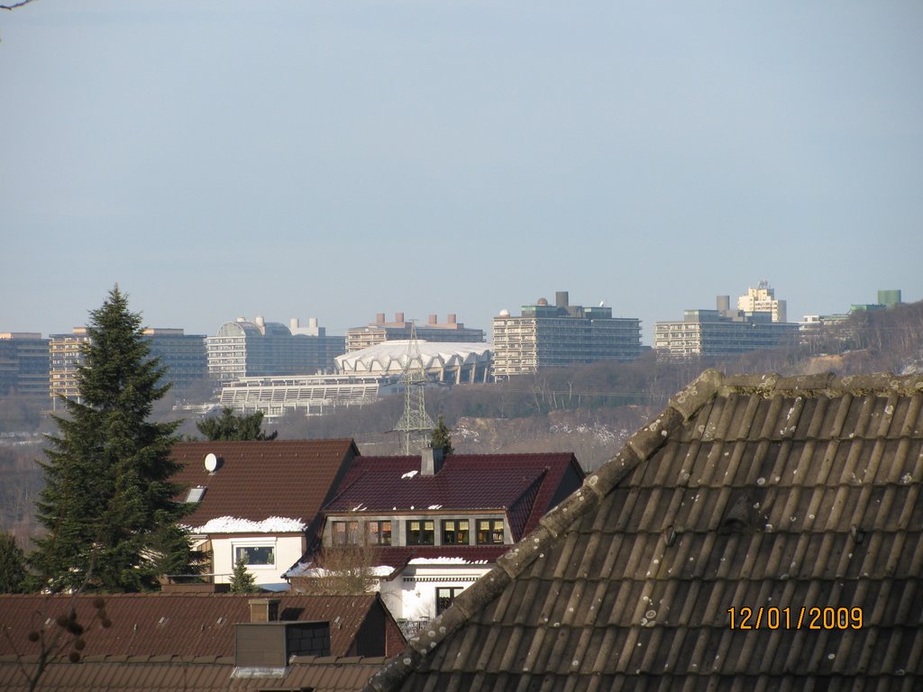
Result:
M222 459L214 473L203 463L209 453ZM348 439L179 443L173 456L186 466L176 482L206 488L184 523L197 528L220 517L282 517L307 527L357 454Z

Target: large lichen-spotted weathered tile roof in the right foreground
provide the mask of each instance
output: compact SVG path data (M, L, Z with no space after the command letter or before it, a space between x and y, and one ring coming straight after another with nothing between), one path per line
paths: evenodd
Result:
M919 690L921 490L923 376L706 371L368 689Z

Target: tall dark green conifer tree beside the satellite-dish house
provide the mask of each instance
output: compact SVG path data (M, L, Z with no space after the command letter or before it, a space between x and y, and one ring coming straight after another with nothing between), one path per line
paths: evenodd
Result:
M181 487L171 480L179 470L170 457L178 423L147 420L169 385L158 386L164 368L149 357L141 317L118 286L90 312L88 335L80 402L63 401L67 415L54 417L58 434L49 435L40 462L37 514L48 533L30 561L52 591L150 589L164 565L179 569L178 560L186 574L197 569L186 564L187 537L176 534L188 511L174 502Z

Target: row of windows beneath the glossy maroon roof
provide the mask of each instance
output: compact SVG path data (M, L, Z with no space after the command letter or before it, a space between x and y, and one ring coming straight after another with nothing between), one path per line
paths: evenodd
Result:
M362 524L366 526L365 542L369 545L391 545L391 521L333 521L333 545L358 544L363 541ZM471 527L474 524L475 543L493 545L503 543L503 519L442 519L442 545L471 544ZM436 519L406 519L404 529L407 545L435 545Z

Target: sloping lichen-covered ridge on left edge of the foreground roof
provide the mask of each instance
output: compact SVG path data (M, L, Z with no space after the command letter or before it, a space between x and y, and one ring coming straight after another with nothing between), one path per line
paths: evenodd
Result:
M530 567L540 555L544 555L545 550L571 524L598 507L602 498L628 477L641 461L650 458L670 433L712 400L722 387L724 378L722 373L710 368L671 397L660 415L631 435L612 459L587 476L580 488L545 514L536 529L500 555L497 566L456 596L449 610L438 615L426 632L410 638L407 648L401 654L369 678L366 690L389 692L400 685L429 651L436 649L443 639L497 598L509 582Z

